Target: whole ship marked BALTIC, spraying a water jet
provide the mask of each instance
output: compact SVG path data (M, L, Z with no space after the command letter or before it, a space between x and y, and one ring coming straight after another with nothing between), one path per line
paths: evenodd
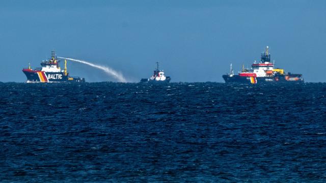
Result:
M67 60L65 59L65 69L61 70L59 66L56 52L51 51L51 58L41 62L41 68L31 69L31 64L28 69L23 69L22 72L26 75L28 83L35 82L85 82L85 78L71 77L67 72Z

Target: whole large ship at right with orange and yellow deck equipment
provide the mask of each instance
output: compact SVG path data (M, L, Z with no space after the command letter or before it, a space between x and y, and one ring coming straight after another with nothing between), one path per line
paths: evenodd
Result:
M270 62L268 46L261 53L259 63L254 62L251 69L244 69L238 75L234 75L232 64L230 73L223 75L226 83L304 83L302 74L285 73L284 69L274 69L274 63Z

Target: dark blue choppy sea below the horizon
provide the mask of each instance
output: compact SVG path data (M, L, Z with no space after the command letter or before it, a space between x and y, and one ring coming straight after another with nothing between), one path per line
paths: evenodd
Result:
M1 182L325 182L326 83L0 83Z

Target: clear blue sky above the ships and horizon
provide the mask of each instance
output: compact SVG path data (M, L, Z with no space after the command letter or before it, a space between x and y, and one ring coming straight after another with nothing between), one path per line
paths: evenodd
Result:
M326 82L326 1L0 0L2 82L25 82L22 68L56 50L138 82L160 63L172 82L224 82L269 46L276 67ZM63 65L62 65L63 67ZM71 76L116 81L68 62Z

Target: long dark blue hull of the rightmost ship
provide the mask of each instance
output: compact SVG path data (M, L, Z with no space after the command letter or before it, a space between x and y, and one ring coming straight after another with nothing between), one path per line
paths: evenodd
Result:
M226 83L248 83L251 84L251 77L243 77L239 75L223 75ZM278 75L271 77L256 77L256 83L304 83L300 74Z

